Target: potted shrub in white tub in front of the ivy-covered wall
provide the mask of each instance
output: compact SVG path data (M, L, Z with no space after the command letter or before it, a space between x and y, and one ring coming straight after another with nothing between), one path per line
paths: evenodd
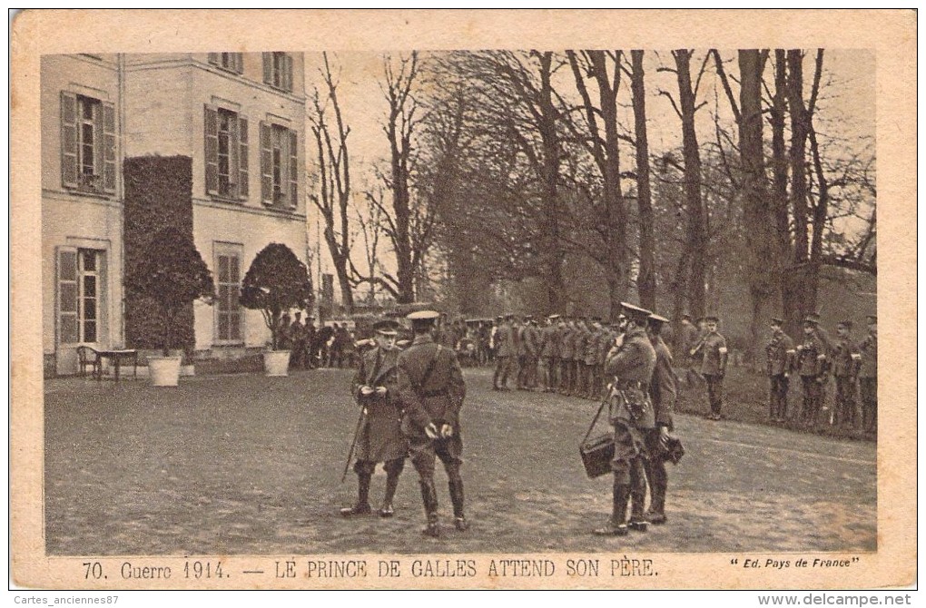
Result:
M161 327L162 357L148 357L148 372L155 386L177 386L181 356L171 356L171 349L182 348L177 341L175 323L184 307L196 300L212 304L215 284L206 262L196 251L193 237L181 230L168 228L156 232L144 258L127 280L126 287L135 295L156 304L154 312Z

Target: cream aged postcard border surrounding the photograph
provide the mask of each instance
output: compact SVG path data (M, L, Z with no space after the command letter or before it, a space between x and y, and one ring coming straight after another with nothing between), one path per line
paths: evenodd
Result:
M43 54L206 51L233 43L243 51L453 49L826 47L873 49L877 60L878 205L881 232L878 308L887 354L879 391L886 404L878 442L878 549L838 555L846 568L791 567L746 571L732 558L765 554L624 554L657 577L489 577L493 558L522 555L324 555L402 563L400 577L199 582L84 577L84 562L116 565L119 557L56 557L43 539L42 242L39 60ZM905 586L916 577L916 13L915 11L58 11L30 10L11 38L11 360L10 501L13 580L39 589L839 589ZM796 558L819 554L795 555ZM145 564L182 568L176 556L136 556ZM292 555L201 556L230 570L273 571ZM561 563L569 554L531 554ZM771 557L770 555L768 557ZM471 559L477 575L411 577L413 559ZM300 558L301 559L301 558ZM650 561L647 561L650 560ZM639 565L638 564L638 565ZM108 567L108 566L107 566ZM115 567L115 566L113 566ZM277 566L279 567L279 565ZM630 566L628 566L630 567ZM642 567L642 566L641 566ZM610 568L610 565L608 566Z

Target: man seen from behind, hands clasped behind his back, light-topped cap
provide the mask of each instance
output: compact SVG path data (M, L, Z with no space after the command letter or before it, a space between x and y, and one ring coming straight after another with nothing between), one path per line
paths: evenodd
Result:
M431 326L438 313L420 311L408 315L415 339L398 356L398 395L405 411L402 430L408 438L412 465L418 471L421 498L428 525L423 533L439 537L437 490L434 488L434 457L441 459L447 473L450 500L457 530L469 522L463 513L463 478L460 477L463 440L459 412L466 397L466 384L452 349L435 344Z

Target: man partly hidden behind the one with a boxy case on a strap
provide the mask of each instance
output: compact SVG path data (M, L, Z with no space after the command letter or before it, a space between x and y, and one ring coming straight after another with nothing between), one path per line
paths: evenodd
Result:
M649 510L644 518L651 524L666 523L666 490L669 488L669 475L666 472L669 432L672 431L672 411L678 394L678 378L672 369L672 354L660 335L667 327L669 319L664 316L650 315L646 323L646 334L656 351L656 367L653 379L649 383L649 396L653 400L656 428L646 431L646 479L649 482ZM643 503L643 497L640 497ZM637 497L633 498L637 502Z

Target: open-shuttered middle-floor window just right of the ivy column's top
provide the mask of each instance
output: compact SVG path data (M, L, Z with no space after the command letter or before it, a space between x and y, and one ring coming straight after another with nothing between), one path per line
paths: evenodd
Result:
M247 118L206 105L206 193L246 199Z

